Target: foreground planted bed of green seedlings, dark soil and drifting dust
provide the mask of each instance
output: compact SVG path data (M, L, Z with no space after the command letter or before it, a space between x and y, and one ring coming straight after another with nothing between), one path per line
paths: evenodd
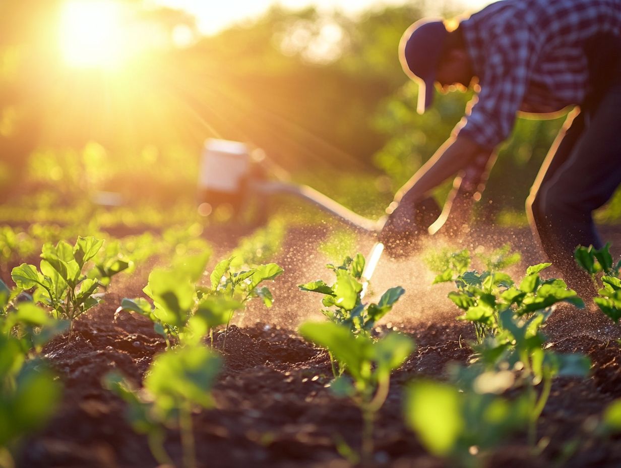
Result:
M363 298L325 227L2 229L2 466L621 463L619 328L522 228L383 259Z

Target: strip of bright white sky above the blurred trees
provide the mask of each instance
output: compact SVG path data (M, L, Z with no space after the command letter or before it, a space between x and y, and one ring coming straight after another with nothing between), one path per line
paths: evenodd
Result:
M265 11L271 4L298 9L315 5L320 9L349 12L355 14L369 8L384 5L404 4L404 0L152 0L156 4L183 9L196 16L199 30L212 34L227 25L255 17ZM492 0L445 0L447 5L463 4L467 9L476 11ZM433 1L428 4L433 4ZM440 2L438 2L440 3Z

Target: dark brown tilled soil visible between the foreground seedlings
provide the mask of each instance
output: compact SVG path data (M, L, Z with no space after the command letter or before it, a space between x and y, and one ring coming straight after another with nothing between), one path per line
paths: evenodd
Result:
M281 283L274 283L276 298L279 291L284 295L301 279L319 277L304 266L309 255L299 248L299 242L307 236L303 232L297 236L288 240L282 258L276 259L286 270L291 269ZM297 264L292 257L298 259ZM314 265L323 263L324 259L316 259ZM428 456L415 434L404 426L401 392L407 382L418 377L443 379L450 362L466 364L471 355L467 342L473 334L468 324L455 321L456 311L445 300L441 287L433 290L425 286L419 291L397 277L379 280L378 290L383 290L384 282L402 284L409 295L395 311L398 319L379 331L394 328L407 333L415 339L417 349L392 377L376 425L374 466L451 466ZM419 281L412 277L410 283ZM111 370L119 370L139 384L153 356L165 349L147 319L115 314L120 299L140 295L145 282L135 278L113 285L106 304L76 322L70 342L58 337L45 347L44 354L65 383L65 396L47 428L25 442L19 467L157 466L146 439L125 422L124 403L101 385L102 376ZM427 291L435 291L432 308L422 298ZM199 466L348 466L335 448L336 441L344 439L353 447L360 446L360 413L325 387L332 374L327 354L293 331L303 316L320 319L315 312L319 303L320 296L291 295L281 305L274 305L260 322L251 318L262 308L252 306L239 326L229 329L225 350L222 335L216 336L225 365L214 389L216 407L194 415ZM517 433L492 454L488 466L621 466L621 439L597 436L593 430L605 406L621 397L621 351L615 341L619 333L597 319L582 330L584 314L591 313L560 310L546 330L549 346L555 351L584 352L594 363L587 379L555 381L538 425L538 437L549 441L548 445L539 456L533 456L525 434ZM573 324L571 333L570 328L564 328L566 323ZM181 444L175 429L168 432L165 448L181 466Z

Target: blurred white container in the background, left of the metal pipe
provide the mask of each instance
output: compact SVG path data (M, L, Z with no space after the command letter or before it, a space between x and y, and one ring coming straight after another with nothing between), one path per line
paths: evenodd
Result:
M237 193L249 170L247 145L237 141L209 139L202 151L199 190Z

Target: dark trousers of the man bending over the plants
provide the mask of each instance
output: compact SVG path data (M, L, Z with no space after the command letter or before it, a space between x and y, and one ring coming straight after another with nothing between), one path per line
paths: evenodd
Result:
M621 183L621 83L609 83L597 102L569 114L527 200L535 237L570 287L591 295L577 267L578 245L602 247L592 211Z

